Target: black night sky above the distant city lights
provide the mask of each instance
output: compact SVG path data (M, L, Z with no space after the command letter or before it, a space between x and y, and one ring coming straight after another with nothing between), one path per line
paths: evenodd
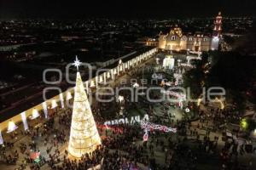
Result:
M0 0L0 19L255 16L255 0Z

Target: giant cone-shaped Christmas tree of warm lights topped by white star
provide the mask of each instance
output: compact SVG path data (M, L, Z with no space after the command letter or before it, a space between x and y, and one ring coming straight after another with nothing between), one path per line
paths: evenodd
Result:
M74 63L77 68L80 65L76 58ZM74 88L73 116L68 144L71 156L81 157L86 153L96 150L102 144L96 128L96 122L90 110L90 103L84 91L79 71L77 72L76 86Z

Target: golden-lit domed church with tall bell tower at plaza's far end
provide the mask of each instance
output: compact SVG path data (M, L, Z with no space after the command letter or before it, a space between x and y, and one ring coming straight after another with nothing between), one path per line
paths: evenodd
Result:
M214 23L212 36L203 34L183 35L179 27L174 27L166 35L160 35L159 48L162 50L191 50L209 51L218 49L219 37L221 32L222 17L219 13Z

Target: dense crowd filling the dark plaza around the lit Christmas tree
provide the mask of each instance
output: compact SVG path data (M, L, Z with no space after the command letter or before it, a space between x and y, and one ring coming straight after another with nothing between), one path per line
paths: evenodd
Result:
M150 67L150 68L149 68ZM133 71L131 77L138 77L148 71L151 74L154 69L152 65L149 67L141 67L138 71ZM210 138L210 134L217 129L206 129L208 123L223 122L223 116L236 119L237 117L230 110L212 110L199 111L199 121L196 127L193 127L189 120L173 120L168 119L168 109L176 107L176 105L167 105L162 103L163 117L154 114L154 106L140 97L138 102L131 102L131 95L125 91L121 93L125 97L123 106L126 110L146 111L150 117L150 121L166 125L168 127L177 127L176 134L162 133L151 129L148 132L148 140L143 141L144 131L138 123L119 124L113 126L104 126L103 122L118 117L120 104L117 101L112 103L96 102L92 105L91 110L94 113L98 131L102 137L102 145L99 145L92 153L85 154L80 159L75 159L68 155L67 141L68 133L71 126L72 109L56 108L55 114L50 115L41 126L29 127L29 131L22 132L27 139L26 142L19 142L16 150L15 143L8 142L0 149L1 161L7 164L18 164L17 169L25 169L27 166L32 170L39 170L40 167L46 166L53 170L84 170L84 169L104 169L119 170L133 169L139 170L142 167L152 170L194 170L198 167L199 153L211 155L219 154L221 163L220 169L229 169L230 167L238 167L237 161L237 145L233 143L225 143L222 150L218 150L218 135L214 139ZM159 99L159 93L149 94L153 99ZM101 96L102 99L107 99ZM115 112L113 115L106 112ZM212 113L212 114L209 114ZM229 120L229 119L228 119ZM41 122L42 120L40 120ZM43 121L42 121L43 122ZM199 130L206 129L206 134L202 135ZM15 134L16 135L16 134ZM203 138L201 138L203 137ZM194 141L196 150L189 144ZM9 151L12 150L12 151ZM230 152L230 150L232 150ZM45 152L45 153L44 153ZM241 148L241 153L243 149ZM32 157L32 154L38 154L38 162ZM161 156L161 157L160 157ZM230 159L235 157L235 159ZM235 160L234 164L230 164L230 160ZM20 163L21 162L21 163ZM231 166L232 165L232 166Z

